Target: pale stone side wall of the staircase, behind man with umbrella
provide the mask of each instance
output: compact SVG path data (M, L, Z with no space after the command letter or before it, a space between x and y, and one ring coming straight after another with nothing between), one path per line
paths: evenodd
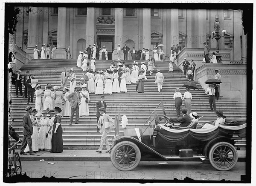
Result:
M204 63L195 69L195 81L198 81L205 91L208 85L204 82L215 77L215 69L218 69L221 74L220 95L246 102L247 66L245 64Z

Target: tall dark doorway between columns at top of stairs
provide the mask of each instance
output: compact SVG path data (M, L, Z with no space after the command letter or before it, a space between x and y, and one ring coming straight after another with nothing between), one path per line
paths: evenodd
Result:
M106 46L108 51L108 59L112 60L112 51L114 49L114 36L112 35L98 35L97 45L99 48Z

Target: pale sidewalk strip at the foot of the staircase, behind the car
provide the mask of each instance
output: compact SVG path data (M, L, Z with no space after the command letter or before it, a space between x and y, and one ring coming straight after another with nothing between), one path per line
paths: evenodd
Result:
M19 153L19 151L17 151ZM39 160L52 160L52 161L110 161L110 154L96 152L96 150L63 150L61 153L50 153L48 151L40 151L35 155L20 155L21 161L39 161ZM246 151L239 150L238 160L245 161ZM198 161L200 159L198 158Z

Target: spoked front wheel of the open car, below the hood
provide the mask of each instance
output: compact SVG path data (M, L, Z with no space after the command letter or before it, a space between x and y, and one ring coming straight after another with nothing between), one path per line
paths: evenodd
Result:
M111 162L120 171L131 171L140 163L140 149L131 141L117 143L111 151Z

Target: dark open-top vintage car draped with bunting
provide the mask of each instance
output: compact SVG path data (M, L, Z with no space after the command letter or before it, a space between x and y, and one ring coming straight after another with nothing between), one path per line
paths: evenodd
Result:
M111 162L116 169L131 171L141 160L191 161L201 157L215 169L227 171L238 160L235 140L245 135L246 120L230 120L211 129L178 130L161 124L124 129L124 136L112 142Z

